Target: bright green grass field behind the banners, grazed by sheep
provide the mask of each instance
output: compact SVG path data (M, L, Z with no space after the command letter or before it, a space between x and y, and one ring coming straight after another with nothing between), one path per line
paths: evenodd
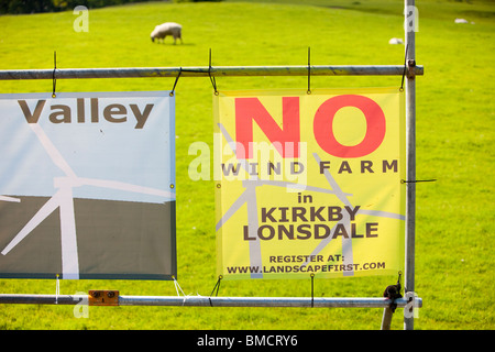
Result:
M302 3L302 1L300 1ZM72 12L0 16L0 69L82 67L402 65L403 1L314 0L150 2L89 11L89 32ZM495 4L418 0L415 329L495 328L494 133ZM455 24L455 18L470 23ZM154 25L184 26L184 44L152 44ZM474 22L474 23L471 23ZM306 77L217 78L219 90L305 88ZM169 90L173 78L58 80L58 91ZM400 86L400 77L314 77L315 88ZM0 81L0 92L52 91L51 80ZM193 182L193 142L212 146L209 78L176 87L178 283L209 296L216 284L213 182ZM316 297L380 297L396 277L317 279ZM172 282L62 280L62 294L119 289L176 295ZM53 280L0 279L0 293L55 294ZM310 280L223 282L221 296L310 296ZM380 329L382 309L91 307L0 305L0 329ZM397 310L392 329L403 329Z

